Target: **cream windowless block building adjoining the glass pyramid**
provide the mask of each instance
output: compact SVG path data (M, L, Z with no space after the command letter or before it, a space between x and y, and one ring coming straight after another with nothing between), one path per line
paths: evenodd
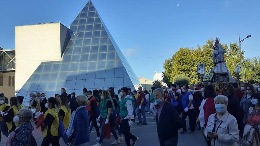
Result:
M15 27L16 92L41 62L61 60L67 30L61 23Z

